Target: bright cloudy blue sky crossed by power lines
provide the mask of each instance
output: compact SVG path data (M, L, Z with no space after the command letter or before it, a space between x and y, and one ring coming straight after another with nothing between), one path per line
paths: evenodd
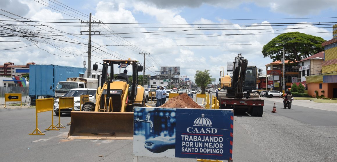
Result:
M298 31L330 40L337 22L334 0L2 0L0 64L83 67L92 13L92 62L135 59L146 74L180 66L219 78L221 66L242 53L248 65L265 68L263 46L279 34ZM11 20L11 21L8 21ZM65 23L67 22L67 23ZM318 22L320 22L318 24ZM278 24L277 24L278 23ZM108 46L102 46L108 45ZM100 47L102 46L102 47ZM98 48L98 49L97 49Z

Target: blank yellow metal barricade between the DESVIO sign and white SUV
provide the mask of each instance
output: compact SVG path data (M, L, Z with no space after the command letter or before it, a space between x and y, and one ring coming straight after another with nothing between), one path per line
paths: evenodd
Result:
M45 130L60 130L57 129L56 126L53 124L54 122L53 106L54 106L54 98L36 99L36 108L35 108L36 128L29 135L44 135L44 133L42 133L37 127L37 113L46 111L52 111L52 125L50 125L49 128Z

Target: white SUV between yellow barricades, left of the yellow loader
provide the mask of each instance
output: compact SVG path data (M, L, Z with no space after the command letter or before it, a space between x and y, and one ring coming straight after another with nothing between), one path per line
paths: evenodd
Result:
M68 91L62 97L74 97L74 110L80 111L81 95L89 95L89 102L95 103L96 102L95 101L96 91L97 89L93 89L93 88L74 88ZM70 113L71 111L72 109L61 109L60 114ZM59 115L59 99L56 99L54 101L54 112L56 115Z

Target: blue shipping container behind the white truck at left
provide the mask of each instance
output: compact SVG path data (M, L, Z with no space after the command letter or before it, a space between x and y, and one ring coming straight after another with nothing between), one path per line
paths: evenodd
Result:
M68 77L79 77L84 74L86 68L59 65L29 65L29 97L31 105L35 105L35 99L55 97L57 83L66 81ZM52 90L50 89L52 86Z

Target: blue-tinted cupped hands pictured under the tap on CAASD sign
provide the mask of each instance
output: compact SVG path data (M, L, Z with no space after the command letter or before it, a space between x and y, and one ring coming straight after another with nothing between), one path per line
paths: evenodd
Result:
M153 153L161 153L168 149L176 148L175 137L156 137L145 141L145 148Z

